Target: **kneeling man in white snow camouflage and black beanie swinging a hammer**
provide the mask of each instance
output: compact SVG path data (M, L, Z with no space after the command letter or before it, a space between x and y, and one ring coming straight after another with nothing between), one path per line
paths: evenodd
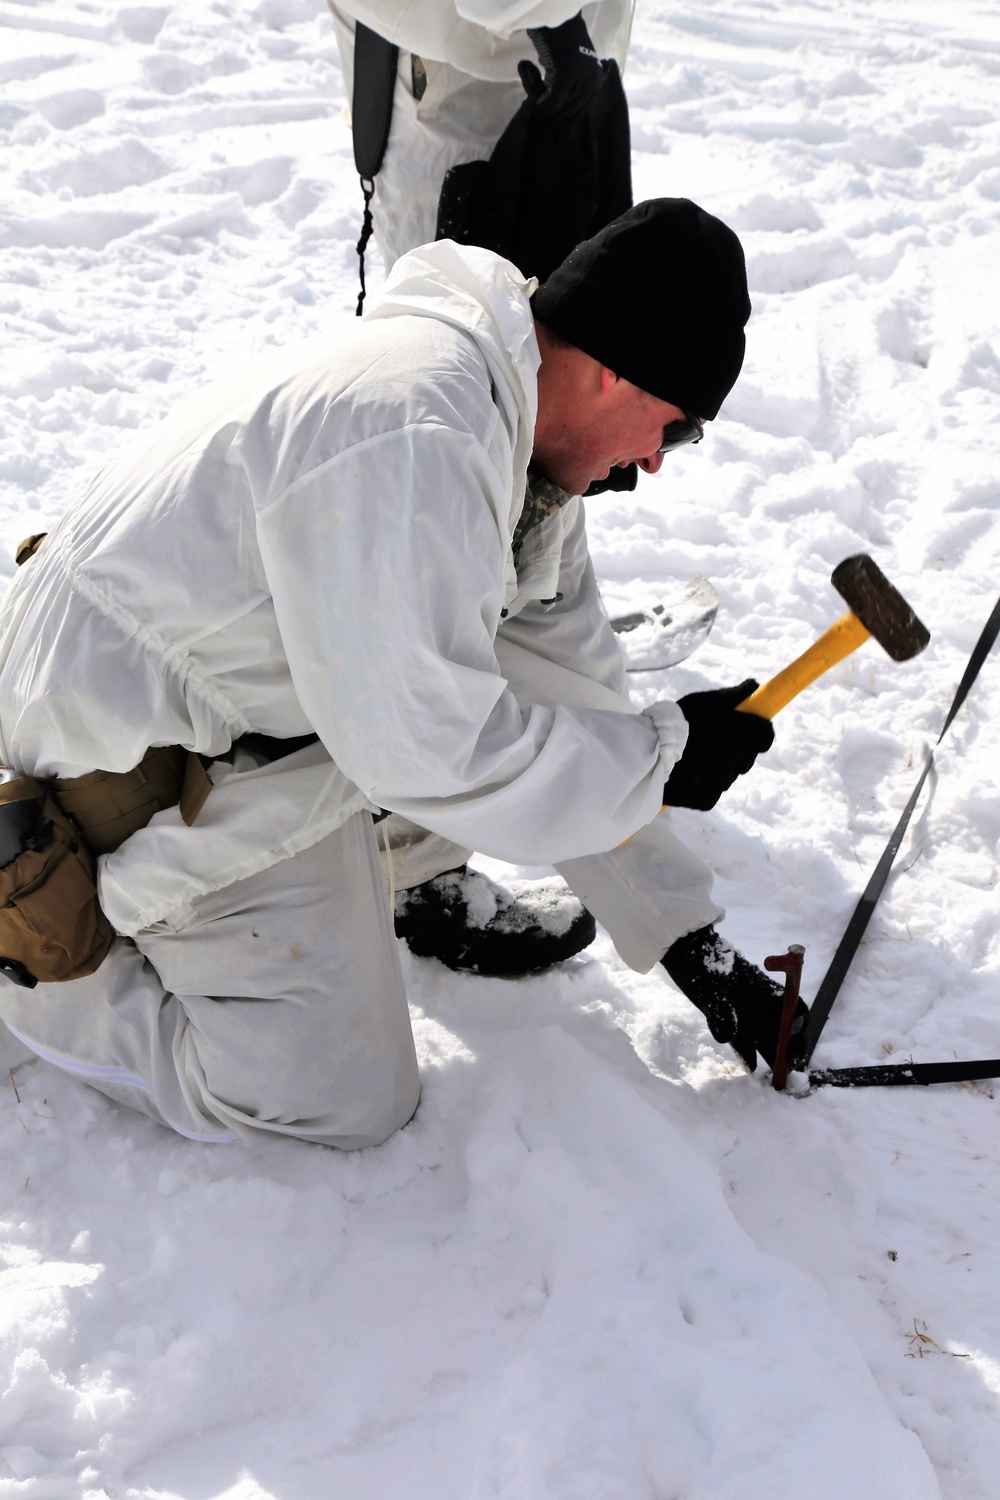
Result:
M384 1140L420 1089L388 810L555 864L628 964L768 1058L777 986L658 814L714 806L771 724L735 711L754 684L634 711L574 498L700 436L748 315L739 242L685 200L537 290L444 240L115 458L0 614L0 759L79 818L114 940L69 982L0 980L7 1026L192 1138ZM201 795L100 842L81 784L145 782L151 750Z

